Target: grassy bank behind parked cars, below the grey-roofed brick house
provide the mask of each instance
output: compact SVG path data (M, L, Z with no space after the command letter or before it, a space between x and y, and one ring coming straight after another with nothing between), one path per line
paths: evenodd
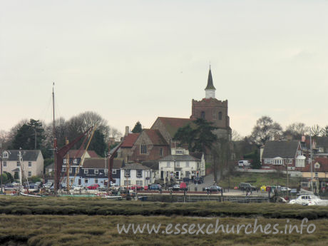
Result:
M230 175L230 188L238 187L240 183L251 183L258 188L262 185L277 185L277 183L280 186L286 186L287 177L285 174L280 173L278 180L277 173L242 173L237 171ZM219 181L219 184L224 188L229 187L226 175ZM289 177L288 186L289 188L298 188L299 178Z

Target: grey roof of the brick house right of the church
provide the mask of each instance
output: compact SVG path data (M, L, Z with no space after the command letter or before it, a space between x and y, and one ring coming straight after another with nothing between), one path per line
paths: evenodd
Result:
M267 141L262 158L294 158L297 153L299 141Z

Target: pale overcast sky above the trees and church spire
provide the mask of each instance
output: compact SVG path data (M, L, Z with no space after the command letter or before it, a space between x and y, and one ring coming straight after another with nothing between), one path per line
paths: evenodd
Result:
M211 65L230 127L328 125L328 1L0 0L0 130L95 111L189 118Z

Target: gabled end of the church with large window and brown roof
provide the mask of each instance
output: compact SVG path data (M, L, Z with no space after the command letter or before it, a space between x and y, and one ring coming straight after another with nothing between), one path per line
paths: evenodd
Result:
M170 148L160 130L143 129L131 148L130 160L158 160L170 153Z

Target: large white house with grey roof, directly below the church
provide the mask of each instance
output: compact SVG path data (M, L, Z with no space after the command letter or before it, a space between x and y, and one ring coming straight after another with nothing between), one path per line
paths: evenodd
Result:
M203 154L189 154L183 148L172 148L171 155L158 160L160 179L164 183L183 178L205 176L205 159Z

